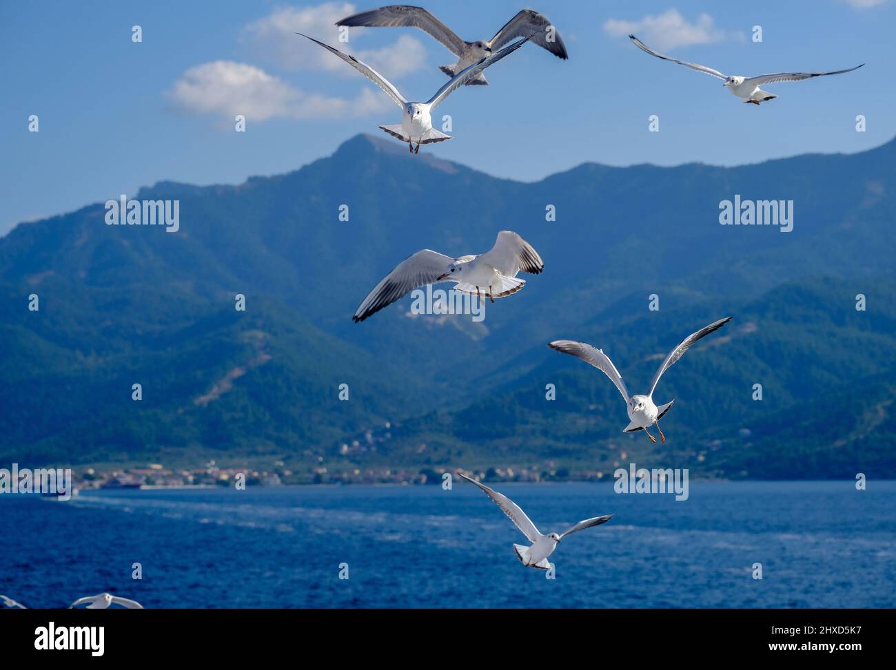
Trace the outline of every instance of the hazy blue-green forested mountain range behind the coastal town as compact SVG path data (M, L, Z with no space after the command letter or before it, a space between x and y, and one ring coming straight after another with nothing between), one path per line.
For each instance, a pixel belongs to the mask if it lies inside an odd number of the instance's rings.
M843 468L862 463L869 477L896 475L884 432L896 141L738 168L585 164L532 184L401 149L359 135L287 175L133 196L179 201L176 233L107 226L102 203L14 228L0 239L0 460L216 454L309 471L549 473L605 468L625 447L645 465L714 476L851 478ZM736 196L792 202L792 230L719 225ZM409 318L409 297L351 322L410 253L481 253L504 228L546 269L487 304L483 322ZM664 376L660 395L676 406L656 447L620 433L625 407L606 378L544 346L605 348L634 389L687 333L728 314ZM776 458L785 440L813 467Z

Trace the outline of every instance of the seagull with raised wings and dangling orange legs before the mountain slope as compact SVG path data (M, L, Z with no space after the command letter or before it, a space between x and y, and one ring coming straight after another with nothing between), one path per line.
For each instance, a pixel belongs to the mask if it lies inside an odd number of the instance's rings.
M582 358L583 361L594 365L600 372L606 374L607 377L610 378L610 381L616 384L616 388L622 393L622 397L625 399L625 404L628 408L628 417L631 420L631 423L625 426L625 433L634 433L643 430L650 438L650 442L656 442L656 439L650 434L650 431L647 430L650 425L656 424L657 430L659 431L659 439L666 442L666 435L659 429L659 419L668 412L675 400L667 402L665 405L660 405L659 408L653 404L653 391L656 391L657 389L659 378L672 366L673 363L676 362L676 360L685 354L685 351L694 345L694 342L698 339L705 338L712 331L718 331L719 328L729 321L731 321L730 316L727 316L724 319L719 319L719 321L712 322L710 325L704 326L699 331L691 333L683 339L676 348L668 353L668 356L663 360L662 365L659 365L659 369L653 374L653 379L650 380L650 391L644 396L630 396L628 394L628 389L625 388L625 382L623 382L622 375L616 370L616 365L613 365L613 361L609 359L609 356L604 353L603 349L593 348L590 344L585 344L583 342L574 342L572 339L556 339L547 346L556 349L557 351L562 351L564 354Z

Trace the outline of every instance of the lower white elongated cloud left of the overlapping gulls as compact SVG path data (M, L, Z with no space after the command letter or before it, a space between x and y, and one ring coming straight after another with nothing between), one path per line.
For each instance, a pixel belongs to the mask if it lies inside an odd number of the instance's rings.
M246 63L214 61L187 70L168 91L179 109L246 120L271 118L332 118L365 116L392 106L374 90L364 89L356 99L306 93L279 77Z

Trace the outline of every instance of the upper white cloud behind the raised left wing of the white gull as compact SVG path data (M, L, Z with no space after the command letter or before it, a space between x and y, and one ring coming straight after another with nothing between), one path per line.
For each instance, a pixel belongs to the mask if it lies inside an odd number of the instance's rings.
M379 49L358 49L355 41L368 29L350 28L349 42L339 41L336 21L356 13L354 4L324 3L312 7L283 7L253 21L243 30L241 41L254 55L284 70L323 70L351 76L351 68L339 58L296 35L305 33L343 53L357 56L389 80L426 66L426 47L420 40L401 35L393 44Z

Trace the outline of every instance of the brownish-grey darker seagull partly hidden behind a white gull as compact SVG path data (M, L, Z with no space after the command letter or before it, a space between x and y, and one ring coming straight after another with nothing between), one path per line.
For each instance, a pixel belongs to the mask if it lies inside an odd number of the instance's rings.
M547 18L533 12L530 9L521 10L510 21L504 24L504 28L497 31L495 37L487 42L478 39L475 42L467 42L454 34L442 21L439 21L423 7L413 7L409 4L390 4L368 12L359 12L337 21L338 26L409 26L428 32L432 37L442 42L449 51L458 57L453 65L442 65L439 69L453 77L480 58L490 56L494 49L504 47L510 40L533 35L532 42L545 48L558 58L564 60L569 56L563 39L557 34ZM488 82L482 73L470 77L464 82L466 85L487 85Z

